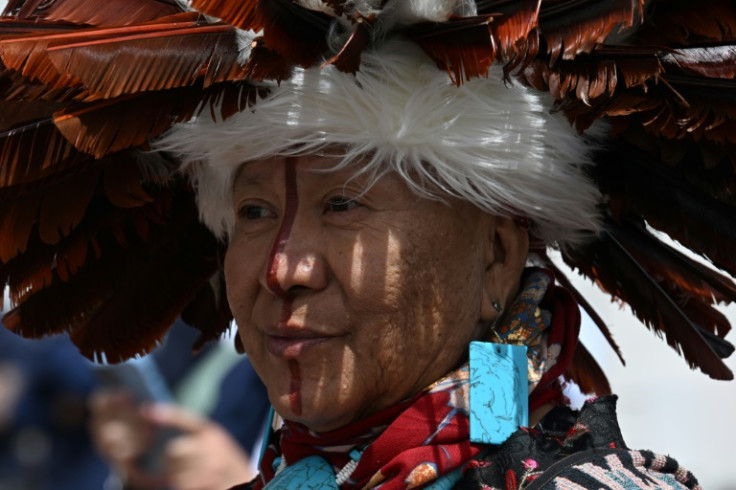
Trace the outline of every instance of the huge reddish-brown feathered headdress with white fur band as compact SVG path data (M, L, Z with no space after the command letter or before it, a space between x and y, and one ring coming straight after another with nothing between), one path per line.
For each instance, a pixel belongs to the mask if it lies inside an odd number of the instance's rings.
M386 43L392 46L397 35L404 40L398 51L421 50L429 64L384 63L395 51ZM571 168L563 164L574 147L567 160L576 168L570 194L578 195L569 202L589 208L596 191L586 179L600 192L602 230L563 247L565 262L628 303L691 366L713 378L733 377L722 362L733 351L724 340L730 323L714 307L736 299L730 1L10 0L0 36L0 282L10 286L14 305L3 321L22 335L67 331L82 353L111 361L150 350L178 315L202 331L200 343L218 337L231 320L219 272L223 244L200 222L177 155L189 155L189 166L207 181L196 181L200 197L214 199L200 203L203 214L226 235L227 218L207 211L208 202L220 209L217 199L225 195L228 173L219 169L259 152L345 144L344 124L336 126L334 117L348 101L359 106L353 113L366 118L362 124L384 120L380 107L359 98L361 81L414 69L418 81L407 93L417 97L415 120L436 116L466 128L465 139L450 141L457 152L433 161L430 145L413 155L405 144L412 134L399 141L389 126L379 142L371 139L378 132L357 143L353 134L348 155L377 155L372 171L379 173L382 162L401 170L414 159L409 174L428 169L421 179L488 209L527 216L548 244L564 242L594 226L591 214L559 228L554 209L478 185L503 173L493 173L503 165L489 170L471 145L494 128L463 111L450 117L451 107L444 114L428 109L419 102L431 97L416 90L440 84L440 74L441 90L461 105L469 107L479 93L523 99L538 124L509 121L516 126L509 134L525 148L542 140L539 151L548 153L509 161L538 170L532 185L545 172L555 179ZM299 96L309 83L326 87L323 98L342 97L340 103L327 112L319 104L309 108L308 114L326 114L324 120L286 124L295 100L299 111L309 106ZM333 94L335 87L353 91ZM606 122L592 164L582 165L590 151L579 144L584 137L570 137L559 117L578 132ZM173 125L192 120L196 131L219 128L207 133L208 148L202 138L187 146L194 132L185 124L157 146L177 152L148 151ZM280 141L293 144L268 149L258 131L276 121ZM250 140L220 131L242 134L244 127ZM227 141L213 140L217 134ZM213 155L223 157L224 167L207 170ZM544 166L548 157L552 163ZM453 159L477 165L458 171ZM577 177L580 171L586 179ZM213 180L218 172L220 180ZM566 231L555 236L556 229ZM652 229L714 267L675 251ZM536 252L553 267L544 247ZM572 287L561 271L557 276ZM605 323L578 296L618 352ZM608 391L582 346L568 375L583 391Z

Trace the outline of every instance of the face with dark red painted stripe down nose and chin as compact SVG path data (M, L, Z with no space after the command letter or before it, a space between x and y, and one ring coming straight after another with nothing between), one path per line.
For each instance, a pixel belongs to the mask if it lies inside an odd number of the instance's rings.
M271 402L329 431L418 392L481 335L494 218L413 194L364 192L325 157L245 165L225 260L239 335Z

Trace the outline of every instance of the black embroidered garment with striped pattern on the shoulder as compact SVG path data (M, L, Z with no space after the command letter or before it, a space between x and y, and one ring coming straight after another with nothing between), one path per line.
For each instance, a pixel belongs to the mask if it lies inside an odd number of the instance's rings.
M616 396L552 410L468 463L458 489L700 489L672 458L626 447Z

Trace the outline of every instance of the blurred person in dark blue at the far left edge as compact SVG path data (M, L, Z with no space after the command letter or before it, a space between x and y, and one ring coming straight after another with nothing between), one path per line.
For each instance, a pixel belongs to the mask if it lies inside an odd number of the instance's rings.
M0 488L98 489L107 466L87 432L96 379L66 336L30 341L0 325Z

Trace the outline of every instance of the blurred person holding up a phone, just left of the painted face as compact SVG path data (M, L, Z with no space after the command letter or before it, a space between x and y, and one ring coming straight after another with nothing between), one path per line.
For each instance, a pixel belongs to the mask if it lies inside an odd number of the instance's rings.
M208 346L190 354L195 333L178 322L145 359L149 362L138 367L146 382L156 385L149 387L157 393L147 400L132 386L101 389L91 397L93 438L115 469L108 487L214 490L255 475L268 410L265 388L249 361L226 349ZM221 366L213 368L217 363ZM224 372L219 383L218 370ZM197 381L202 373L207 379ZM211 408L187 402L201 383L219 386L214 396L201 395L215 400ZM243 416L243 407L249 416Z

